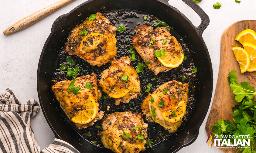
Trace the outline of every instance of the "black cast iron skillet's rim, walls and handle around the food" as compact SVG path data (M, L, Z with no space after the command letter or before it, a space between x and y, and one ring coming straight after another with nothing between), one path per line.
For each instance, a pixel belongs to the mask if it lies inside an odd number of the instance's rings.
M207 14L193 0L182 1L189 5L202 19L198 27L195 27L181 12L170 6L168 0L89 0L55 20L39 59L37 90L43 114L56 138L67 141L80 152L111 152L107 149L95 147L81 138L68 122L63 119L63 114L58 104L54 102L54 95L51 91L51 80L56 69L58 51L64 46L69 30L80 23L81 20L84 20L85 16L97 11L101 12L101 9L105 7L106 10L138 10L161 17L184 39L188 48L192 51L194 64L198 70L196 73L198 82L194 96L194 109L190 112L186 126L176 133L176 139L169 138L154 146L154 149L149 149L145 152L176 152L196 140L200 125L209 108L213 90L212 64L202 38L202 33L209 25L210 20Z

